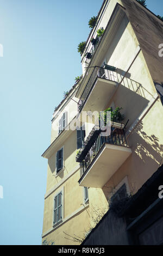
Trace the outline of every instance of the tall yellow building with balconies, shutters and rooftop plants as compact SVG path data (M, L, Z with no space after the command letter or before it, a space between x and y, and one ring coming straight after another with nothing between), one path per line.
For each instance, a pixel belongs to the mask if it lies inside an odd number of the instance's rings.
M162 28L136 0L103 2L81 56L83 76L55 109L51 145L42 154L42 241L79 245L111 200L135 194L160 166ZM91 114L108 108L111 132L102 136Z

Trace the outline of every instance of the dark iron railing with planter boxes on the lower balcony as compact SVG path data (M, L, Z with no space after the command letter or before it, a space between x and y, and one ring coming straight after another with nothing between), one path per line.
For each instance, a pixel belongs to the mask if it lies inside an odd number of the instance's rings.
M82 156L79 158L80 177L86 172L104 143L128 147L124 129L111 126L109 136L102 136L101 130L98 133L96 131L96 137L90 139L89 147L82 151Z

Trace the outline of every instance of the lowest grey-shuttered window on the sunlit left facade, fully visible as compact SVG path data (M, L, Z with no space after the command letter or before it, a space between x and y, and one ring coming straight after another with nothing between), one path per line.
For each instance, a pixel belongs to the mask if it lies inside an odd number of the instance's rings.
M58 193L54 197L54 221L53 224L57 224L62 220L62 192Z

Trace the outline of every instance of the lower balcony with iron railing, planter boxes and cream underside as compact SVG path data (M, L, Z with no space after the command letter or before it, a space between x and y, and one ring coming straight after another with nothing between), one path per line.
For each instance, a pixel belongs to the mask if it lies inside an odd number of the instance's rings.
M109 136L102 136L100 129L91 132L76 159L80 162L79 186L102 188L130 156L123 127L112 123Z

